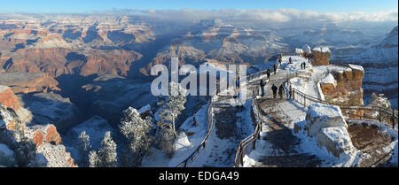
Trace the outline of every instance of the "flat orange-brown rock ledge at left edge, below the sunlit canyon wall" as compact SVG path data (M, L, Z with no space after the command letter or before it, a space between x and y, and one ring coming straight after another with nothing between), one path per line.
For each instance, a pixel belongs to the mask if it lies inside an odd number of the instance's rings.
M0 73L0 84L12 87L13 93L60 90L59 82L48 73Z

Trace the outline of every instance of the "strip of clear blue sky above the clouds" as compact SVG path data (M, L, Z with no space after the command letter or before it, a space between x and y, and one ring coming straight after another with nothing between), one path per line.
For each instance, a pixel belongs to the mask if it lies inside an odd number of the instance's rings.
M0 13L90 13L116 9L297 9L315 12L397 10L397 0L7 0Z

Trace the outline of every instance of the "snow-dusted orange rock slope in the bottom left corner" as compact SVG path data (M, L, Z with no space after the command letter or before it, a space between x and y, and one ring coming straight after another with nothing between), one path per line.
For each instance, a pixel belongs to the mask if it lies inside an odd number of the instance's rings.
M3 87L2 89L4 89ZM75 166L74 159L66 152L65 146L60 144L61 137L54 125L29 127L26 122L21 121L20 116L11 107L7 110L3 102L0 102L0 143L6 144L11 150L20 150L20 145L26 143L22 143L21 134L13 134L13 132L18 131L18 133L23 133L22 135L25 135L28 141L35 144L35 147L30 149L34 150L35 157L24 159L29 160L27 161L29 165L49 167ZM17 123L19 123L18 126L20 127L15 127Z

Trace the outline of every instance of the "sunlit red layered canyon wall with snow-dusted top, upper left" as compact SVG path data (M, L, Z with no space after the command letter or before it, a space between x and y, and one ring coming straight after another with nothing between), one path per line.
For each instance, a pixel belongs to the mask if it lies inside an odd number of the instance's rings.
M44 72L52 77L98 72L126 75L141 55L124 48L154 40L149 27L131 24L126 16L20 16L0 19L0 25L3 70Z

